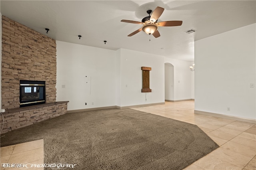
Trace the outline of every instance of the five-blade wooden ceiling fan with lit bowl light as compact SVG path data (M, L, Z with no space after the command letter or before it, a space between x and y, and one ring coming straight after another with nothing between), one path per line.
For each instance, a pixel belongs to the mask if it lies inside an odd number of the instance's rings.
M156 9L153 11L152 15L150 16L152 10L147 10L147 13L149 16L146 16L142 19L141 22L138 21L131 21L131 20L121 20L121 22L128 22L132 24L142 24L142 28L132 32L128 35L128 37L133 36L137 34L140 31L146 32L146 34L152 34L155 38L160 37L160 33L158 32L158 27L169 27L169 26L181 26L182 21L163 21L163 22L157 22L158 18L162 15L164 12L164 8L156 7Z

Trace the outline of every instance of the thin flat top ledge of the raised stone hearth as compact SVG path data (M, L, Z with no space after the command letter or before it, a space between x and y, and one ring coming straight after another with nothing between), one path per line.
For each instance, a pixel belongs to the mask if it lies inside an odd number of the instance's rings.
M20 111L27 111L27 110L31 110L31 109L38 109L38 108L42 108L42 107L47 107L47 106L53 106L53 105L59 105L62 103L68 103L69 101L56 101L56 102L52 102L52 103L44 103L44 104L40 104L40 105L33 105L33 106L26 106L26 107L18 107L18 108L14 108L14 109L6 109L4 114L7 113L14 113L14 112L20 112Z

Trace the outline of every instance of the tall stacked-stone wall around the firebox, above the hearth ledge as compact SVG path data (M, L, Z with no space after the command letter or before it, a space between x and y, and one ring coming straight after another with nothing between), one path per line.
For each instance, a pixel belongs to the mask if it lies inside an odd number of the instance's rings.
M20 107L20 80L46 81L56 101L56 41L2 16L2 109Z

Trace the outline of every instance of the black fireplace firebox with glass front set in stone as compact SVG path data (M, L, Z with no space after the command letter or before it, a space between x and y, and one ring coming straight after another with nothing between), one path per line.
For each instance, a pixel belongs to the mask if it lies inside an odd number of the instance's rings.
M45 81L20 80L20 107L46 103Z

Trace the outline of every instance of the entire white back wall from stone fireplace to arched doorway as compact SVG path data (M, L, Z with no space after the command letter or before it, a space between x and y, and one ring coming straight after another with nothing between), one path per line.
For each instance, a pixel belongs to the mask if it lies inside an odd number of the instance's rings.
M164 102L164 57L127 49L56 44L56 101L70 101L68 110ZM152 67L151 93L141 93L143 66Z

